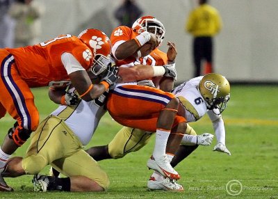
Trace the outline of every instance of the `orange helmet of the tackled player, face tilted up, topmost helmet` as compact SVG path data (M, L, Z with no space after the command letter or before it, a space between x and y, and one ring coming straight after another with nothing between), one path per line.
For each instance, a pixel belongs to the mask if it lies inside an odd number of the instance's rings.
M133 31L136 31L138 33L142 33L145 31L154 33L158 36L161 42L165 35L165 28L163 24L158 19L152 16L140 17L136 20L136 22L133 23L132 29Z

